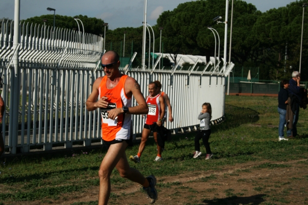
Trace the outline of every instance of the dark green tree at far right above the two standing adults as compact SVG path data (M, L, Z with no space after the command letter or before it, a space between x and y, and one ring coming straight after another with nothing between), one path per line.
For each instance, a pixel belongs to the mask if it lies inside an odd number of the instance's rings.
M271 79L289 78L290 67L298 70L302 5L305 2L293 2L286 7L271 9L258 18L253 28L260 48L258 63L266 65ZM305 23L304 26L305 31L308 26ZM307 35L303 35L302 65L308 60L307 40ZM303 78L306 77L305 73L302 72Z

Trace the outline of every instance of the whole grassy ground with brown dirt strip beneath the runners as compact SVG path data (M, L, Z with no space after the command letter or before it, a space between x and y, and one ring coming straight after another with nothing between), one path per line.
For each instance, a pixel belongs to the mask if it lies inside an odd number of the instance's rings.
M300 110L301 138L278 141L278 100L226 96L226 119L212 126L205 160L192 158L196 132L179 133L166 143L164 161L153 162L147 142L141 163L129 162L158 179L157 204L308 204L308 111ZM198 113L196 113L197 117ZM176 116L175 116L176 117ZM126 150L136 155L139 142ZM0 158L0 204L97 204L98 170L104 148ZM141 187L111 175L110 204L146 204Z

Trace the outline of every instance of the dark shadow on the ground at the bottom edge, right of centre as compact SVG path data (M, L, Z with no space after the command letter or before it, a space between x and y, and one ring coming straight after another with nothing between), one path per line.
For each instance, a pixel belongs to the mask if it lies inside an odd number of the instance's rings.
M264 202L263 197L266 196L265 194L258 194L254 196L247 196L247 197L238 197L238 196L231 196L221 199L211 199L211 200L203 200L203 203L208 205L221 205L221 204L260 204Z

